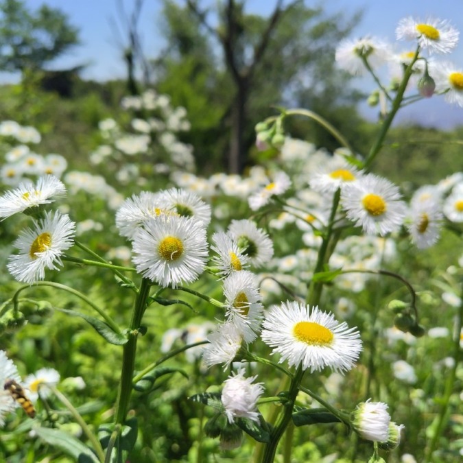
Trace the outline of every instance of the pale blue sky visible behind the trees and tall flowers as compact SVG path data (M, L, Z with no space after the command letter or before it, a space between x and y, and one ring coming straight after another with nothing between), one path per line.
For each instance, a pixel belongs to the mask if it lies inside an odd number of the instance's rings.
M77 64L88 64L82 77L94 80L108 80L123 78L125 68L121 59L122 48L118 40L123 36L117 36L110 26L110 22L117 23L119 28L122 23L117 14L117 2L119 0L26 0L29 8L37 8L42 3L60 8L69 16L71 23L80 28L82 45L75 47L69 53L54 63L55 68L72 67ZM209 0L205 0L206 2ZM276 0L248 0L248 10L252 12L268 12L272 10ZM130 13L133 0L121 0L126 10ZM213 2L212 2L213 3ZM449 19L461 32L458 48L449 56L449 59L463 67L463 1L462 0L306 0L307 5L322 4L327 12L347 12L351 14L357 10L364 10L364 17L354 29L351 36L361 37L374 35L387 38L394 42L395 28L399 20L405 16L414 16L425 19L434 16L440 19ZM161 25L160 16L161 0L145 0L139 32L143 43L143 49L148 57L155 56L161 49L162 43L158 28ZM0 82L11 82L15 76L0 73ZM365 83L359 82L364 86ZM434 99L433 99L434 100ZM413 105L402 118L420 115L423 120L424 106L429 103ZM431 106L437 103L433 102ZM445 108L446 117L463 123L463 110L451 108L449 105L439 106L442 111ZM440 109L430 111L427 123L442 122L442 118L436 115ZM456 118L456 119L455 119Z

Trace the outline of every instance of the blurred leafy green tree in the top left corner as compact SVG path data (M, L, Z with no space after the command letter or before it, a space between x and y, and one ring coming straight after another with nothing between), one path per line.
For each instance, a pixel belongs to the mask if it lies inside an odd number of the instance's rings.
M57 8L42 5L29 12L22 0L0 3L0 69L14 72L43 69L78 45L78 29Z

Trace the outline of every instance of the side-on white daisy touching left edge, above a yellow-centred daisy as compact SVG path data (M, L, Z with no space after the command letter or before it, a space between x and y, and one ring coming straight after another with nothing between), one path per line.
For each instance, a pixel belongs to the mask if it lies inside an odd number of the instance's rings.
M32 182L23 182L16 189L7 191L0 197L0 217L4 219L29 207L48 204L53 202L49 198L64 193L64 184L51 175L40 177L35 185Z

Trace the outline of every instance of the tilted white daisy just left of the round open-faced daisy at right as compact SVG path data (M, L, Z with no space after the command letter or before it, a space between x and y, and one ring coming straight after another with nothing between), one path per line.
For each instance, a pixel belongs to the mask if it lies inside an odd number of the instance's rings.
M349 164L342 156L333 156L326 165L312 174L309 185L319 193L334 193L338 188L355 182L360 176L359 169Z

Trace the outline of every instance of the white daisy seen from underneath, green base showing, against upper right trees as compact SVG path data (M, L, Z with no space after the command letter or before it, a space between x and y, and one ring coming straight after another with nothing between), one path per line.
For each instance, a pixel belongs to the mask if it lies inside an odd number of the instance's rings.
M372 69L388 62L392 56L390 45L376 37L364 37L353 40L346 38L336 49L335 60L338 66L352 75L367 72L364 59Z

